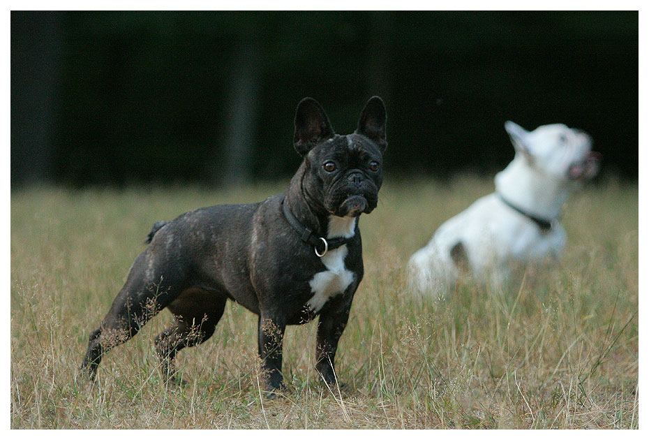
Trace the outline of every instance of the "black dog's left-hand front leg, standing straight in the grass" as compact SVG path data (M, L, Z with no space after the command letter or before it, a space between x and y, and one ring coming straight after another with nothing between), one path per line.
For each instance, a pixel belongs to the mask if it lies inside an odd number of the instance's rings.
M266 378L268 397L275 397L274 391L284 388L282 383L282 343L285 320L275 316L259 316L259 356Z

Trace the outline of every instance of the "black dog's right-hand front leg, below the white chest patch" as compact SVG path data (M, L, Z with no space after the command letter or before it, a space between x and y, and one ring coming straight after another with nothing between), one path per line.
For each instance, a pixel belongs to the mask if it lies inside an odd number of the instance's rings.
M337 298L336 298L337 299ZM347 325L350 316L351 300L343 302L338 307L327 307L318 320L318 337L315 347L317 363L315 369L329 385L336 383L334 373L334 356L338 349L338 339Z

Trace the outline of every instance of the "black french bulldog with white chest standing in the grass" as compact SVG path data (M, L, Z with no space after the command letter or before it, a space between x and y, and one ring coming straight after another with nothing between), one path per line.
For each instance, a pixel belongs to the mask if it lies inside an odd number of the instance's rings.
M156 337L162 376L183 384L176 353L206 341L228 298L259 315L259 355L266 390L283 388L286 325L320 316L318 372L333 383L334 355L363 277L358 217L378 202L385 105L366 104L358 129L337 135L318 102L304 98L294 147L304 158L288 190L249 205L217 205L158 222L126 284L90 335L82 371L91 380L102 355L126 342L167 307L174 323Z

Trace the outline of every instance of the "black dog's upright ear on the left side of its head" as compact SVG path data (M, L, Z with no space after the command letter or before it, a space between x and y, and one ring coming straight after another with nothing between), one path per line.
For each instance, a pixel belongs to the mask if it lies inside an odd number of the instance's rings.
M304 98L295 111L295 135L293 145L301 156L305 156L318 142L331 138L334 129L327 114L313 98Z

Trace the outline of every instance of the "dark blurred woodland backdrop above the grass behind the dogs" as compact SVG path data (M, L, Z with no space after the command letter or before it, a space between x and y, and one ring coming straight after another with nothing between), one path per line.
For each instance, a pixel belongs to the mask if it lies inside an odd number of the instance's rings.
M11 182L236 185L292 174L294 110L372 95L388 173L494 173L503 123L588 131L638 175L638 13L11 13Z

